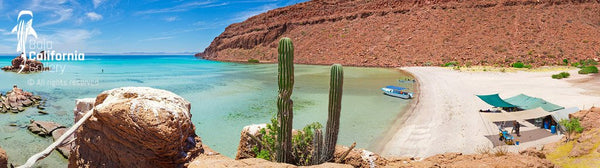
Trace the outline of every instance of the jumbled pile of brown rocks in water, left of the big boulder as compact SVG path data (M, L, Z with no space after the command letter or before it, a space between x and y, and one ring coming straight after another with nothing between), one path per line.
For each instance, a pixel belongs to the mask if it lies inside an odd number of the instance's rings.
M42 97L23 91L17 85L14 85L11 91L6 92L6 95L0 93L0 113L19 113L31 106L37 106L38 109L43 110L44 103Z

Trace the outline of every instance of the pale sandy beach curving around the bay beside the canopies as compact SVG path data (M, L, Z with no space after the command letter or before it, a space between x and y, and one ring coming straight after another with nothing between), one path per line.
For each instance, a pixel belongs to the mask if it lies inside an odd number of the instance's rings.
M493 146L493 140L486 135L497 134L497 126L479 114L479 109L491 106L481 101L478 94L499 93L508 98L523 93L566 108L584 109L600 104L598 91L587 84L597 81L597 77L579 75L577 70L570 70L571 77L562 80L550 77L558 72L461 72L440 67L402 70L412 73L419 82L418 99L376 148L385 156L475 153L477 148ZM533 125L525 127L522 130L535 129ZM539 147L559 139L560 136L552 136L519 147Z

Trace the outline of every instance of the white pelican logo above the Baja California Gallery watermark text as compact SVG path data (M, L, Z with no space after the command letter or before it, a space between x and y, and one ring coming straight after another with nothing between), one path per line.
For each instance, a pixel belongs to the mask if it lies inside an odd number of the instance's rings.
M26 15L29 15L29 17L21 18L21 16ZM23 58L21 69L19 72L17 72L21 73L21 71L23 71L25 68L25 64L27 63L27 56L25 55L25 53L27 53L27 45L25 44L27 42L27 37L32 35L33 37L37 38L37 33L35 33L35 30L33 30L33 27L31 27L33 24L33 12L28 10L22 10L19 12L19 16L17 16L17 23L18 24L13 28L12 33L17 33L17 52L20 52L20 57Z

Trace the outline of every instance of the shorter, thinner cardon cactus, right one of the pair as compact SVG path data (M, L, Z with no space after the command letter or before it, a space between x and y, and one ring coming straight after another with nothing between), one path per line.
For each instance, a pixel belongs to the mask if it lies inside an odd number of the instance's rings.
M325 149L322 162L333 158L335 145L340 129L340 112L342 110L342 90L344 86L344 70L342 65L331 66L329 82L329 112L327 115L327 127L325 128Z

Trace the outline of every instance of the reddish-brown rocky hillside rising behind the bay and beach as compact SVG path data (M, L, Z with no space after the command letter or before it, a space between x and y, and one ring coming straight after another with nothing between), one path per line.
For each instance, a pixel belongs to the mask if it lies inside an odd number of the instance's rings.
M314 0L228 26L197 57L357 66L550 65L600 58L600 0Z

